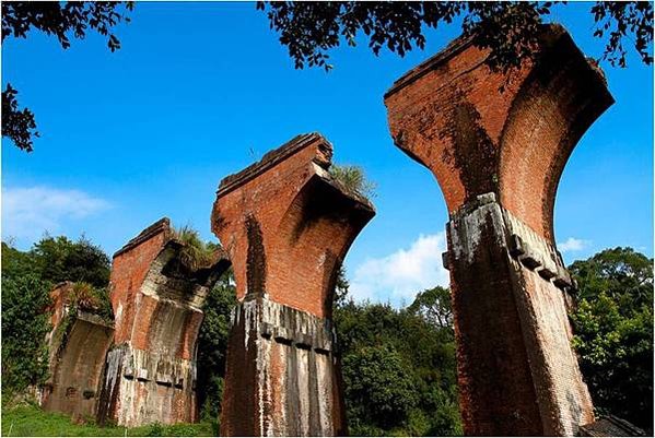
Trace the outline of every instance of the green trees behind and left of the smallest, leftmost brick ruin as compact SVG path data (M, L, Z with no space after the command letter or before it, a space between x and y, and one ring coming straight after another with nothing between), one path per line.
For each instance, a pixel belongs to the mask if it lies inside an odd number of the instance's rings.
M85 238L44 237L30 251L2 242L2 391L21 393L48 375L45 335L52 286L73 281L71 305L110 320L109 258ZM86 283L84 283L86 282Z

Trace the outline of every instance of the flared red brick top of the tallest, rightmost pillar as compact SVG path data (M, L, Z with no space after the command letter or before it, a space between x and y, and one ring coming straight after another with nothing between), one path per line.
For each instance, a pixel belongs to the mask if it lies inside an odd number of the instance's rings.
M552 241L560 176L573 147L612 103L600 69L559 25L534 61L490 71L489 55L459 38L385 95L398 147L432 170L448 211L493 192Z

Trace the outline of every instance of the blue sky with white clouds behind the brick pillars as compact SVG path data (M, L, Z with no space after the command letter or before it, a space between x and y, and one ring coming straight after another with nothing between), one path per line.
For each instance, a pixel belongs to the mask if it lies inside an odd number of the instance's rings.
M589 3L554 19L589 56ZM377 184L377 216L346 260L355 296L394 304L445 284L447 212L428 169L391 142L383 94L458 35L428 32L425 50L375 57L364 40L335 70L295 70L254 3L138 3L122 48L89 35L68 50L32 33L2 47L2 82L36 115L26 154L2 139L2 238L27 249L47 229L84 233L113 253L162 216L207 239L224 176L297 133L319 131L335 159ZM587 131L560 182L555 236L571 262L607 247L653 256L653 69L603 64L617 103Z

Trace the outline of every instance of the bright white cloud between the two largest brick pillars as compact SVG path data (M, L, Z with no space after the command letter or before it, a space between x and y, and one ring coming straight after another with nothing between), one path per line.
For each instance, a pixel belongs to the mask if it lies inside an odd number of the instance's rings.
M445 250L445 233L421 235L409 249L367 259L355 268L350 293L358 300L410 304L425 288L448 285L448 271L442 263Z

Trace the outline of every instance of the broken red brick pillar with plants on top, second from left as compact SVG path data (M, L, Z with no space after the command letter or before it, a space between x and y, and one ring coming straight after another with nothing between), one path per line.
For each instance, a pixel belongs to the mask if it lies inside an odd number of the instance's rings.
M168 218L114 254L110 298L116 332L105 366L98 421L122 426L197 419L196 344L202 305L230 262L189 269Z

